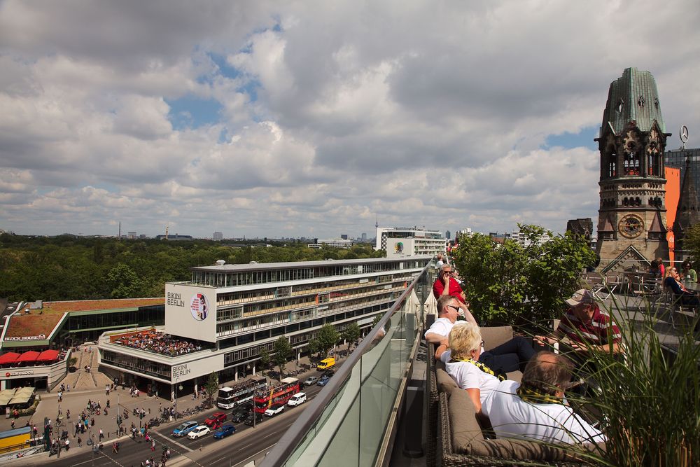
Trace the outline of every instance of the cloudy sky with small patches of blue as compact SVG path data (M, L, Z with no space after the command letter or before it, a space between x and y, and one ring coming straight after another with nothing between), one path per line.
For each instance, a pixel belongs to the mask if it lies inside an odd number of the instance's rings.
M0 229L560 232L610 82L700 146L687 1L0 1Z

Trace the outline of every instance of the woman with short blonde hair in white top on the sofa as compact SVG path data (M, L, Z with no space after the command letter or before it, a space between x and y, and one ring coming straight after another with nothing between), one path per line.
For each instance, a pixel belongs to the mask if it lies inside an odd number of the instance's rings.
M456 323L449 331L450 360L445 363L447 374L461 389L469 394L477 414L498 383L505 379L496 377L486 365L479 363L482 337L479 326L469 321Z

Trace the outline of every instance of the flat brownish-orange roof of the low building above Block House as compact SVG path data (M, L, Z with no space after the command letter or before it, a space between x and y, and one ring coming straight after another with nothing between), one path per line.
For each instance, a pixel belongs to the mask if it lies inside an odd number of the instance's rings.
M48 335L66 312L104 312L109 309L138 308L147 305L164 305L162 298L124 298L116 300L76 300L43 302L41 309L31 309L29 304L10 318L5 337L31 337ZM29 309L29 313L25 310Z

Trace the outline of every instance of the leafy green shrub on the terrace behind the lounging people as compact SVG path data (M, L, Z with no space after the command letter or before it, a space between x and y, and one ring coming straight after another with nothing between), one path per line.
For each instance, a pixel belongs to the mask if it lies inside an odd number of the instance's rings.
M537 225L519 228L528 246L476 234L462 237L453 253L470 310L482 324L543 323L558 316L563 300L580 288L580 272L595 261L582 239ZM551 239L538 244L545 233Z

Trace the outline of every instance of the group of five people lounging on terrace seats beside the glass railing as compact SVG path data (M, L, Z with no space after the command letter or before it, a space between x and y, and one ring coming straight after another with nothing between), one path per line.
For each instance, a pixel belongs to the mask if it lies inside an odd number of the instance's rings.
M549 335L534 336L533 344L514 337L485 351L479 326L452 270L448 264L440 266L433 284L438 317L426 331L426 341L435 344L435 358L467 391L478 416L490 422L496 437L569 444L604 441L603 434L575 413L565 397L572 380L580 377L577 369L585 354L622 351L617 324L598 307L591 291L581 289L566 300L568 309ZM459 315L463 321L458 321ZM550 351L554 344L568 346L575 360ZM522 372L521 382L507 379L507 373L516 370Z

